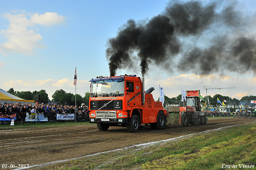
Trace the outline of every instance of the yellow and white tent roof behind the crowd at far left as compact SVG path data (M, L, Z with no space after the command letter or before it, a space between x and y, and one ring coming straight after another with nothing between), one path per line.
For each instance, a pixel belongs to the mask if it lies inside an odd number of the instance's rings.
M4 91L3 89L0 88L0 102L2 105L4 105L4 103L21 103L21 104L26 104L26 103L34 103L34 100L24 100L22 98L19 98L17 96L14 96L6 91Z

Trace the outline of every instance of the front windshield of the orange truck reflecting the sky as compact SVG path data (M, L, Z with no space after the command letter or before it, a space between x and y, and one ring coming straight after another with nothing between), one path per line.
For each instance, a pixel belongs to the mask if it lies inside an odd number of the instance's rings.
M91 84L91 96L95 95L124 95L124 80L100 80Z

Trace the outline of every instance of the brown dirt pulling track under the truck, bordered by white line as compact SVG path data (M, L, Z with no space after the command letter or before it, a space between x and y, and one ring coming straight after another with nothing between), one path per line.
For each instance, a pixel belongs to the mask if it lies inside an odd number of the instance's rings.
M1 130L0 165L33 166L255 121L255 118L212 118L208 119L206 125L167 127L164 130L152 130L144 126L137 133L130 133L123 127L110 127L107 131L100 131L95 124L35 130Z

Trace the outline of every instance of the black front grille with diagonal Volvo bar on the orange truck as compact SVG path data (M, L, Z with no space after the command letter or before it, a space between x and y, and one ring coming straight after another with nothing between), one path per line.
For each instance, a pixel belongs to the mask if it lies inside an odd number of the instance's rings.
M122 100L96 100L91 101L91 110L122 110L123 102ZM108 103L110 102L110 103ZM107 104L108 103L108 104ZM107 104L107 105L106 105Z

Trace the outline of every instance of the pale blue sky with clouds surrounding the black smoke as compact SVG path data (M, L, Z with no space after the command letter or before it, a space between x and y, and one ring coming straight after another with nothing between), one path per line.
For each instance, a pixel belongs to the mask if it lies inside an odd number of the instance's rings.
M49 98L59 89L75 94L72 82L77 67L76 92L84 96L90 90L88 81L91 78L110 74L105 54L108 39L115 37L129 19L147 22L162 14L169 2L13 0L10 3L3 0L0 6L0 88L31 92L44 89ZM238 3L242 12L255 16L256 2ZM139 68L117 70L117 75L120 74L142 76ZM256 95L254 72L202 76L194 72L168 72L152 65L145 78L146 88L156 88L153 92L155 100L159 93L158 84L169 97L178 96L181 89L199 89L205 95L204 85L236 87L235 90L209 90L211 95L220 93L238 99Z

